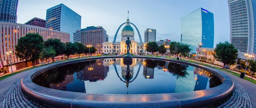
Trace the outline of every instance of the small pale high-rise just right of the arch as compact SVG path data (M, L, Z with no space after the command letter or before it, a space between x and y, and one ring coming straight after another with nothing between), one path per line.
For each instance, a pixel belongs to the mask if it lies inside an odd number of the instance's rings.
M144 31L144 43L155 42L157 39L157 30L147 28Z

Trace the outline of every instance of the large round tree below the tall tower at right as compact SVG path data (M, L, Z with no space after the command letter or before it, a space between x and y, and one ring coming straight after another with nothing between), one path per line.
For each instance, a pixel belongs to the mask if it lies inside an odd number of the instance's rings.
M236 63L238 51L232 44L228 43L227 41L224 43L218 43L214 49L214 52L214 58L224 64L223 68L225 65Z

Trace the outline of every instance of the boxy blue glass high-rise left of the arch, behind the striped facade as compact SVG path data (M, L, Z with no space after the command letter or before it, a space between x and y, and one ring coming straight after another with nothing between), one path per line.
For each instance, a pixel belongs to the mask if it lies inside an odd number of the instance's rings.
M81 42L81 16L62 3L47 9L46 28L70 33L70 42Z

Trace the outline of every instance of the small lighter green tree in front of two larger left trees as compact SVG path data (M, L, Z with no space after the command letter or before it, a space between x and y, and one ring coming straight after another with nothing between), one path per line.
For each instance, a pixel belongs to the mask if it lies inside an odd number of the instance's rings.
M49 58L54 58L56 57L56 51L53 49L52 46L48 47L48 48L44 48L42 53L41 53L41 58L46 58L48 60L48 64L49 64Z

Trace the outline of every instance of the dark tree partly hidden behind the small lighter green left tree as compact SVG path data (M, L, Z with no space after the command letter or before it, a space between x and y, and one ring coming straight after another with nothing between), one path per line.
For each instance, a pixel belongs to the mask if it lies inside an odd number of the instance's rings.
M55 57L63 54L64 43L62 43L61 40L59 40L59 39L47 39L46 41L44 41L44 46L45 47L52 46L52 48L56 52ZM52 58L52 60L54 62L54 57Z

